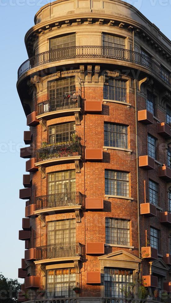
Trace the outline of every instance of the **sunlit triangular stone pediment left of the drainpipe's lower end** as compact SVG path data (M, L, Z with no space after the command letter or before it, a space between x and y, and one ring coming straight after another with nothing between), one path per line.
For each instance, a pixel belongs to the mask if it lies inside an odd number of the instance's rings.
M99 260L115 260L115 261L129 261L140 263L141 259L137 258L133 254L127 253L125 250L117 250L113 253L106 254L99 257Z

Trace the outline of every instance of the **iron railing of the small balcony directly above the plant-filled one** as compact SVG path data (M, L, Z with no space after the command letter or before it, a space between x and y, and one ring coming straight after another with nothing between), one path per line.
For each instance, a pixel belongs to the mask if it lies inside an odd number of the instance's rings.
M43 101L37 105L37 115L72 108L81 108L81 97L79 95Z

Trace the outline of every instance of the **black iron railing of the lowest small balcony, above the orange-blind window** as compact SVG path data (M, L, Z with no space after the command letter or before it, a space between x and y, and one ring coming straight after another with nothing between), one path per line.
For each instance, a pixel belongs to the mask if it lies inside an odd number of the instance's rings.
M80 243L59 243L37 247L36 260L47 260L54 258L84 257L85 246Z

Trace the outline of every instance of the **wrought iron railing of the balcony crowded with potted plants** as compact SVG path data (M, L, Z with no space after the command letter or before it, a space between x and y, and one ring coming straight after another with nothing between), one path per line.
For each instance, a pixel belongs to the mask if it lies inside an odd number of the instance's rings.
M82 156L82 146L79 142L50 145L37 150L37 162L69 156Z

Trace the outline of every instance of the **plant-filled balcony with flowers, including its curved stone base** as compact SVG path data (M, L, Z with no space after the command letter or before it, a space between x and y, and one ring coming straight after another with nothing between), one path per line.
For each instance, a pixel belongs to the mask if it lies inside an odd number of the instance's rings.
M77 143L64 143L64 144L47 144L37 150L37 163L35 166L48 166L57 163L70 163L75 162L76 173L80 172L79 161L82 160L82 146Z

